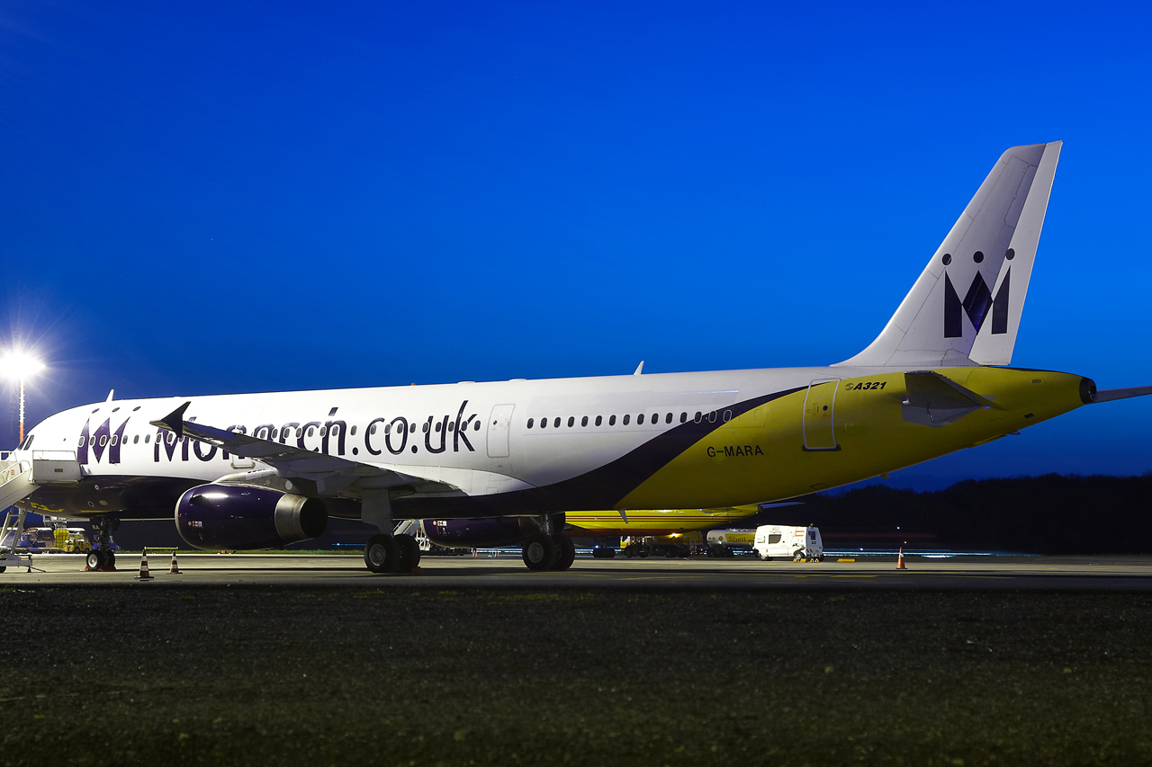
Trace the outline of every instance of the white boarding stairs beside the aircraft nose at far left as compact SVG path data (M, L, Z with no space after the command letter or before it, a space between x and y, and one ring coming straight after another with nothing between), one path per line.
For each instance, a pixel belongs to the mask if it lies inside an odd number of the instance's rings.
M25 508L20 503L40 485L75 485L81 479L76 454L67 450L14 450L0 453L0 509L6 509L0 524L0 572L9 567L28 568L32 557L16 553L16 544L24 530Z

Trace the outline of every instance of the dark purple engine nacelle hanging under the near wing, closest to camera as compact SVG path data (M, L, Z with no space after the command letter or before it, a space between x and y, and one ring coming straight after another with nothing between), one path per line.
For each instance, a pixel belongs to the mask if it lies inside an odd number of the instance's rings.
M198 485L176 502L176 530L196 548L280 548L327 525L323 501L270 487Z

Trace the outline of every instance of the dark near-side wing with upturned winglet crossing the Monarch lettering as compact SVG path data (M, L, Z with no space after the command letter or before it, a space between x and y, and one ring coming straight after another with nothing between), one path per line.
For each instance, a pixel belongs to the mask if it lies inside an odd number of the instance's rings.
M321 486L325 484L325 480L327 480L326 484L329 487L343 487L350 484L350 481L361 479L362 485L370 484L372 487L419 485L425 492L456 489L447 483L430 481L392 469L373 466L372 464L349 461L348 458L334 455L305 450L291 445L281 445L280 442L260 439L251 434L237 434L236 432L228 432L206 424L197 424L194 420L185 420L184 411L188 410L188 405L190 404L190 402L185 402L160 420L153 420L151 424L160 428L167 428L175 433L177 438L188 436L206 445L219 447L233 455L259 461L275 469L276 473L281 477L303 477L317 480ZM333 481L340 476L343 476L347 481ZM365 483L364 480L369 478L372 481Z

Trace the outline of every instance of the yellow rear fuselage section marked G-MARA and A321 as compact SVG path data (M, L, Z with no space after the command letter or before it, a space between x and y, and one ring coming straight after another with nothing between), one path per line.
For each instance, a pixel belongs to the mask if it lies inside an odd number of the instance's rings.
M1002 367L937 372L994 402L943 426L904 420L904 372L846 378L733 418L620 502L655 508L795 498L987 442L1083 404L1079 375Z

